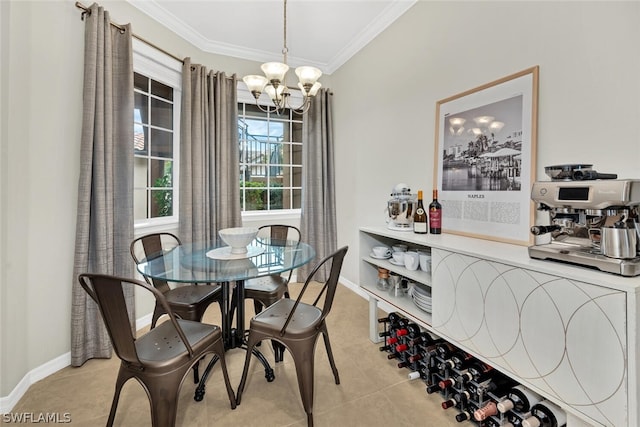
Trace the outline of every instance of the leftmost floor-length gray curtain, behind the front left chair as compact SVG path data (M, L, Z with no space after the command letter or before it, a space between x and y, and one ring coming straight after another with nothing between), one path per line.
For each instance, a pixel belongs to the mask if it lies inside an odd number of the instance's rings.
M73 265L71 364L111 357L111 344L81 273L132 277L133 56L131 28L110 25L93 4L86 16L78 217ZM133 290L127 295L134 319Z

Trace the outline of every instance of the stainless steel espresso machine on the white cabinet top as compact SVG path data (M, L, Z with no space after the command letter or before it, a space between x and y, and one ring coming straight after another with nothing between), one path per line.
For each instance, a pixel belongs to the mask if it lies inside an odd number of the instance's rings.
M529 256L640 275L640 180L598 177L590 168L572 166L578 173L556 175L550 169L557 167L548 167L552 180L533 183L531 199L548 213L550 224L533 226L531 232L549 235L550 241L530 246Z

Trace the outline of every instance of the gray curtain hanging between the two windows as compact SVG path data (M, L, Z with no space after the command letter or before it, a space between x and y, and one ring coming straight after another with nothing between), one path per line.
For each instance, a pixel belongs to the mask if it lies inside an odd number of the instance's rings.
M180 125L180 238L213 241L242 224L235 74L184 60Z

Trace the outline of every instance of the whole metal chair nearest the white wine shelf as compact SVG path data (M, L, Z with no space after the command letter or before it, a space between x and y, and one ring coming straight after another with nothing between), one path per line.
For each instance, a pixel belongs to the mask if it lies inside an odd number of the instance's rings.
M344 246L320 261L311 271L309 277L307 277L300 291L300 295L295 301L289 298L280 299L251 319L247 341L247 356L245 357L242 379L240 380L236 395L236 402L238 404L240 404L249 372L251 350L262 340L275 340L291 352L296 366L302 404L307 413L307 424L313 426L314 349L320 333L322 333L324 339L329 364L331 365L336 384L340 384L338 369L336 368L333 353L331 352L331 344L329 343L329 334L327 332L325 319L329 315L331 305L333 304L340 270L342 269L342 262L347 253L347 249L348 247ZM313 304L301 302L316 272L328 262L331 262L329 279L322 284ZM324 303L322 309L320 309L316 305L323 296Z

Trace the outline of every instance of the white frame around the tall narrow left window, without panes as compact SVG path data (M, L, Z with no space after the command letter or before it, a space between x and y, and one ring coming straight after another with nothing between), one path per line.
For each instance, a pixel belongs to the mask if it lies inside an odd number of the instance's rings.
M182 62L137 39L133 39L132 47L133 71L173 88L173 215L134 220L136 232L154 232L177 227L179 224ZM133 148L131 155L134 155Z

